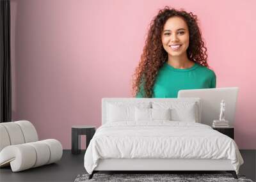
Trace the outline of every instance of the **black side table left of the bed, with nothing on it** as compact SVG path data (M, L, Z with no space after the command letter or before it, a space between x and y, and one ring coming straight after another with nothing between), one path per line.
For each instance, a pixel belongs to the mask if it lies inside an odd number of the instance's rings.
M79 154L81 153L81 135L86 135L86 148L90 143L94 133L95 133L95 126L85 126L85 125L77 125L72 126L72 141L71 141L71 152L72 154Z

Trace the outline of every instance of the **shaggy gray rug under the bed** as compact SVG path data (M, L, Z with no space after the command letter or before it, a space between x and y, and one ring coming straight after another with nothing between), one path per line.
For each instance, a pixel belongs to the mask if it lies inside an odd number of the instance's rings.
M172 182L187 182L187 181L243 181L253 182L251 179L246 179L244 176L238 175L238 179L234 179L232 174L99 174L93 175L92 179L88 179L89 174L79 174L75 182L85 181L100 181L100 182L118 182L118 181L172 181Z

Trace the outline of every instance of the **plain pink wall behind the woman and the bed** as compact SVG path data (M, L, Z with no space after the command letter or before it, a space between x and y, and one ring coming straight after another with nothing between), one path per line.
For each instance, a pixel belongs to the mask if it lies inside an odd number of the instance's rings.
M70 149L72 125L100 126L101 98L131 96L148 24L168 5L198 15L217 86L240 88L237 145L256 149L255 2L11 0L13 120Z

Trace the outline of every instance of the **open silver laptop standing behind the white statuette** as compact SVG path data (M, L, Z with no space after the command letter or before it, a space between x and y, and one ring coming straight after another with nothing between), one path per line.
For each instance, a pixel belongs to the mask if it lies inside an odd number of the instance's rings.
M238 87L215 89L180 90L178 98L198 97L202 102L201 123L212 126L213 120L220 118L220 103L225 100L225 120L234 126Z

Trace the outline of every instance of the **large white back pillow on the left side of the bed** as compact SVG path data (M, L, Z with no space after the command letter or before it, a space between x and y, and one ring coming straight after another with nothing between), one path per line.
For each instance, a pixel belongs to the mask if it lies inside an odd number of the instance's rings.
M150 102L109 102L106 106L107 122L135 121L135 107L150 108Z

